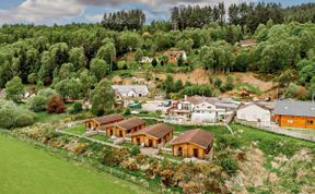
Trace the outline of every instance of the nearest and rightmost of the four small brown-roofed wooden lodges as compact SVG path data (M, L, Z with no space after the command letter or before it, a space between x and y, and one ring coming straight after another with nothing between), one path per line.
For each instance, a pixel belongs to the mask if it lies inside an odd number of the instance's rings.
M213 147L213 134L205 130L184 132L172 143L172 151L176 157L205 159Z

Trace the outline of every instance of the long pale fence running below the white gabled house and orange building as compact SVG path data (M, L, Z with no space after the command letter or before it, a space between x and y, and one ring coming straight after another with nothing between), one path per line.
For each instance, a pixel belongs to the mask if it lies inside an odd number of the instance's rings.
M304 140L304 141L310 141L310 142L315 142L314 135L288 131L288 130L282 129L280 126L262 126L262 125L259 125L259 124L256 124L253 122L241 121L241 120L235 120L235 122L243 124L243 125L246 125L246 126L250 126L254 129L258 129L258 130L262 130L262 131L267 131L267 132L271 132L271 133L276 133L276 134L281 134L281 135L285 135L285 136L290 136L290 137L294 137L294 138L300 138L300 140Z

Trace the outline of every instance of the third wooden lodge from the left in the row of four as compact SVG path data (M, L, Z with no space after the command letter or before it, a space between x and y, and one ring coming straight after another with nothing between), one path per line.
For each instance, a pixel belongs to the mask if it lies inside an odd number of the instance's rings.
M131 142L135 145L156 148L173 138L174 129L164 123L154 124L131 134Z

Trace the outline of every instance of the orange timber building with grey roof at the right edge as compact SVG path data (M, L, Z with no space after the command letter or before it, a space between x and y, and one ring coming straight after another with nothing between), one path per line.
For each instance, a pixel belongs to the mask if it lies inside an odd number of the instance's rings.
M315 102L278 100L273 111L280 126L315 129Z

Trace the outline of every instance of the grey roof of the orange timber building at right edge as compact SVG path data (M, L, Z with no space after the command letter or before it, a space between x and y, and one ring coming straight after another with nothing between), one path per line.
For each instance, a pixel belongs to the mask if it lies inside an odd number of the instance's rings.
M315 117L315 104L312 101L278 100L275 114Z

